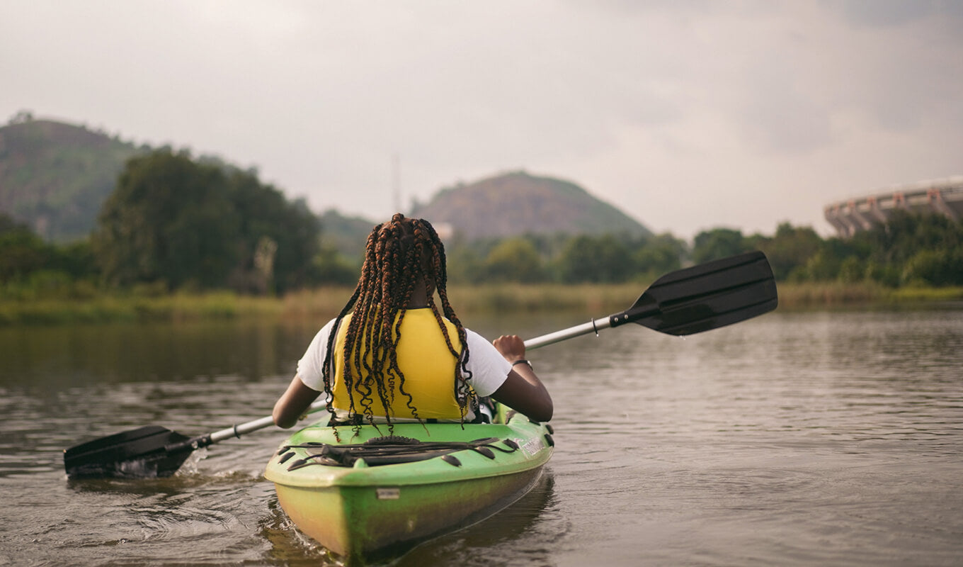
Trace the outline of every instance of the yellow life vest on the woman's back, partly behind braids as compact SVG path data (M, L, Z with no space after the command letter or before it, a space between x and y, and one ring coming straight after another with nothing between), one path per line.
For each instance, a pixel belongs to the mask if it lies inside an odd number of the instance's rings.
M397 317L395 321L397 322ZM448 337L451 338L452 345L458 354L461 353L461 344L458 341L458 332L455 325L448 319L442 319L448 330ZM351 411L351 414L364 413L364 406L361 405L361 393L357 391L357 384L352 387L351 395L354 407L350 407L348 389L345 385L344 351L345 339L348 335L348 327L351 322L351 315L345 316L338 329L335 339L332 361L334 363L334 380L332 385L333 406L336 410ZM394 327L394 325L392 325ZM404 392L411 394L411 405L418 412L421 419L460 419L461 410L455 399L455 365L457 357L448 350L448 344L438 327L438 321L434 318L434 313L430 309L415 309L404 312L404 320L401 328L402 338L398 342L396 355L398 357L398 367L404 374ZM362 349L363 352L363 349ZM371 364L372 358L368 357ZM368 379L363 373L357 372L353 361L351 362L352 374L361 376L360 380ZM413 419L411 409L408 408L408 397L404 395L399 386L401 379L394 371L385 372L385 387L390 388L388 378L393 378L394 392L388 392L388 408L392 419ZM355 380L358 380L355 378ZM375 416L384 416L384 408L377 395L377 386L371 384L372 409Z

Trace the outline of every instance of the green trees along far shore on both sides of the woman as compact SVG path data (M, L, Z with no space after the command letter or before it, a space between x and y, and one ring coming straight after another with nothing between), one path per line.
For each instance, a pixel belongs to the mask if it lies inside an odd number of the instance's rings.
M0 297L103 290L232 289L283 294L353 284L361 258L326 244L319 219L256 172L163 148L131 158L90 238L42 240L0 214ZM649 283L690 263L762 250L783 282L963 285L963 223L897 211L842 239L779 225L772 235L527 235L446 243L454 284Z

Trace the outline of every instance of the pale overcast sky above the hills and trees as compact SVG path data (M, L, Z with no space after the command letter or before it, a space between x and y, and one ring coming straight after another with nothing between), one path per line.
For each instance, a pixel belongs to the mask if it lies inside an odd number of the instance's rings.
M373 221L525 170L680 238L828 235L830 202L963 174L961 29L963 0L0 0L0 121Z

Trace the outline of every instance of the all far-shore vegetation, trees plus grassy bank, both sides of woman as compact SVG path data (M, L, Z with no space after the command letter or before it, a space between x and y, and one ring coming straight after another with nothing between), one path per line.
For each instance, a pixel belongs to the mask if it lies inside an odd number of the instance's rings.
M346 257L303 202L256 172L169 148L128 160L90 237L54 244L0 214L0 324L323 317L342 307ZM661 275L762 250L783 309L963 299L963 223L897 211L851 238L536 234L447 242L460 311L625 309Z

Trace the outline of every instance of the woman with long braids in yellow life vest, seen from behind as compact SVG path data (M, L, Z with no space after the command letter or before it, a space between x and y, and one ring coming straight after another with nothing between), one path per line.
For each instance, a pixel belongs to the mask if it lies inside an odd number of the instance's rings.
M447 279L445 248L428 221L398 213L375 227L351 299L311 341L274 404L274 423L291 427L322 392L333 424L479 421L479 400L489 395L531 419L552 419L552 398L522 339L488 343L465 329Z

